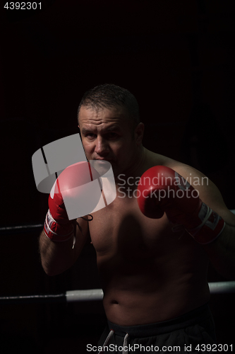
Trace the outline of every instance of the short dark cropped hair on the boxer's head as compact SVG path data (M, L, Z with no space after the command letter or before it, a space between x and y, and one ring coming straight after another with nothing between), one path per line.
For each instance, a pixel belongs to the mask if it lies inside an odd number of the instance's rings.
M126 109L136 127L140 122L140 111L135 96L127 89L114 84L102 84L86 91L78 106L78 115L81 106L99 109L112 108L117 105Z

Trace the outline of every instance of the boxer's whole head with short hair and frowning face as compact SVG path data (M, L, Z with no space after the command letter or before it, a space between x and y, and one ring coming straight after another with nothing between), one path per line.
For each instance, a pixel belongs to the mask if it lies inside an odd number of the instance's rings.
M78 124L88 160L110 161L114 175L124 173L140 156L143 123L128 90L105 84L86 92L78 107Z

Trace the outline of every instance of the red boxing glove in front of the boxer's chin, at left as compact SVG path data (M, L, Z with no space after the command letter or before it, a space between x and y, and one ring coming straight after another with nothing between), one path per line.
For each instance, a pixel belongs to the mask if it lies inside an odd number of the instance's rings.
M49 210L44 222L44 233L52 241L67 241L74 236L76 231L76 219L70 220L64 205L64 198L78 198L74 195L73 188L85 185L93 181L92 176L98 176L88 162L80 162L68 166L56 179L49 195ZM94 178L95 179L95 178ZM62 193L64 198L62 196Z

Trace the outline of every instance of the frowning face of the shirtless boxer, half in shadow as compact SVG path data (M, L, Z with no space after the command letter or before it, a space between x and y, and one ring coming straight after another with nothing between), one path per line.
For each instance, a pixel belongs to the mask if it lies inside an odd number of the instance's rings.
M88 160L105 160L112 164L114 176L130 170L140 155L143 123L134 130L123 108L81 107L80 134Z

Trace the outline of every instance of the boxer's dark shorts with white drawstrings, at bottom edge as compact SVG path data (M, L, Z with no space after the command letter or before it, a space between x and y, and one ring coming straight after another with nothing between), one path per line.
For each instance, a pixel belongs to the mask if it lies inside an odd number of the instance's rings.
M156 324L117 326L108 321L98 349L103 346L111 330L114 334L102 353L211 353L212 346L216 343L215 324L208 304L183 316Z

